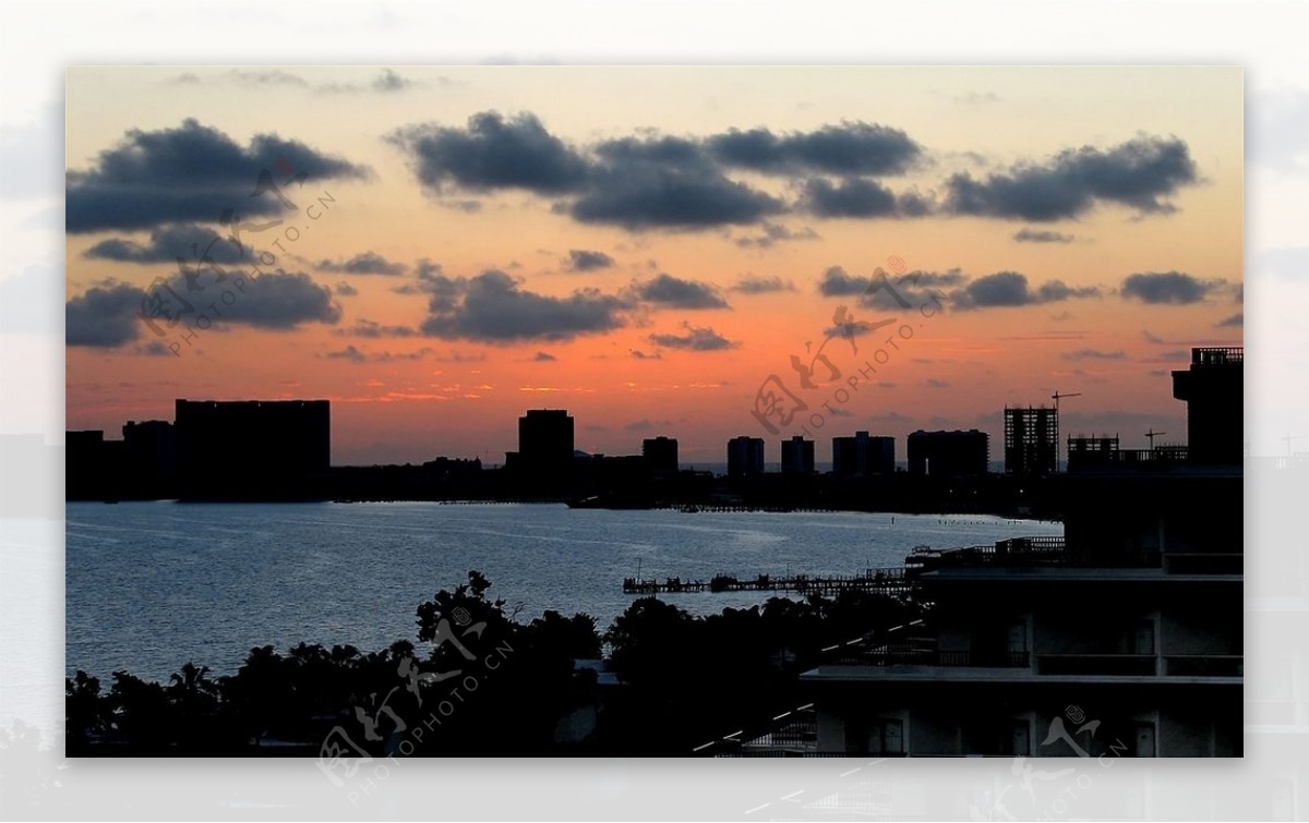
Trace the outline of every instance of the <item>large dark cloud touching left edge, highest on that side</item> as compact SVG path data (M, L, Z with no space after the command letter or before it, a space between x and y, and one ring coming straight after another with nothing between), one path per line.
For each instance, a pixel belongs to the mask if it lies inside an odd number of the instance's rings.
M242 148L194 119L179 128L134 128L117 147L101 152L89 170L68 173L65 226L79 233L216 222L225 209L246 220L278 215L283 205L271 191L251 195L266 170L278 186L296 174L315 182L372 174L367 166L276 135L257 135ZM300 196L295 184L283 194L291 201Z

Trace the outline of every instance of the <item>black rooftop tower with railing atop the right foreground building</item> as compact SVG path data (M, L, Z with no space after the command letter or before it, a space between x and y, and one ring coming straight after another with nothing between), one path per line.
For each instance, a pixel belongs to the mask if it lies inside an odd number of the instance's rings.
M1173 372L1173 396L1186 402L1186 446L1192 463L1241 463L1242 357L1242 348L1192 348L1191 368Z

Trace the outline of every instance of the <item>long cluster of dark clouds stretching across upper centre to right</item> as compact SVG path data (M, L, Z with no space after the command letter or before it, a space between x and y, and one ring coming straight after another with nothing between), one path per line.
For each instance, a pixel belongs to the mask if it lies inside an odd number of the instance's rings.
M550 198L556 213L579 222L631 230L762 224L763 234L733 241L762 249L812 236L810 229L792 232L771 220L784 213L822 219L944 213L1037 222L1075 219L1100 204L1169 213L1175 209L1170 198L1199 181L1185 141L1149 135L1110 148L1066 149L980 179L956 173L944 182L941 201L912 190L897 192L884 182L927 167L929 157L902 130L876 123L783 133L730 128L703 137L647 131L575 145L531 113L483 111L462 127L411 124L387 139L437 199L520 190ZM750 182L732 177L736 173ZM761 178L780 181L798 196L787 201L759 188ZM1071 238L1024 230L1016 239Z

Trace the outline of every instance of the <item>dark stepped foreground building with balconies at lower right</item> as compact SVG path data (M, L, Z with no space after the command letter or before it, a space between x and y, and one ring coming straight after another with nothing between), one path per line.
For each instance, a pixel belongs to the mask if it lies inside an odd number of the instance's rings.
M1063 480L1063 539L911 557L929 618L801 678L816 751L1241 755L1241 369L1194 349L1187 450L1106 444Z

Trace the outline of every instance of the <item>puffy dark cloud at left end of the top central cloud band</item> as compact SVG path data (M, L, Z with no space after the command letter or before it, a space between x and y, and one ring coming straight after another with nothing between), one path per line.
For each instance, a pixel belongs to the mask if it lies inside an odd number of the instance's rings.
M577 190L588 175L581 154L530 113L507 119L499 111L483 111L469 118L465 128L408 126L387 140L408 156L423 186L437 194L448 184L562 194Z

